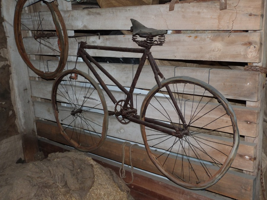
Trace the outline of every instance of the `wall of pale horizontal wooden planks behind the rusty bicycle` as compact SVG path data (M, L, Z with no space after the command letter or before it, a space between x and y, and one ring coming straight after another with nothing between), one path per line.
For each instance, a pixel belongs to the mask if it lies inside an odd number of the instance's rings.
M165 4L64 10L70 9L70 5L67 5L65 1L59 1L59 3L64 3L64 6L62 4L60 6L64 8L61 13L67 29L75 30L75 32L79 32L79 30L129 30L131 26L130 18L134 18L148 27L179 30L179 34L166 35L166 42L163 47L152 48L152 54L157 59L185 60L187 63L196 62L196 60L200 62L202 60L224 61L241 66L244 63L265 66L264 53L266 50L263 41L266 34L264 29L265 18L263 16L266 12L266 2L264 0L242 0L236 6L237 2L236 0L228 0L228 9L222 11L219 11L219 1L176 4L174 11L170 12L169 5ZM51 17L47 12L40 12L40 15L42 15L41 18L47 20L46 27L43 26L43 28L50 30L52 27ZM25 23L28 18L29 14L23 15ZM233 32L229 36L231 29ZM25 40L28 40L28 44L31 44L30 38ZM101 36L100 40L97 36L91 36L87 39L69 39L69 56L76 55L77 41L83 40L87 40L88 44L136 47L136 44L131 41L131 36L128 35ZM26 48L30 51L38 47L29 45ZM140 57L139 54L133 53L99 50L89 50L88 52L93 56ZM73 68L74 59L71 61L72 57L69 57L70 62L65 69ZM56 66L56 63L57 61L49 61L50 68ZM83 62L79 62L77 68L90 74ZM114 74L123 86L129 87L137 66L106 63L104 68ZM206 66L206 68L184 68L178 65L160 66L160 70L164 71L166 78L191 76L209 82L232 102L241 101L243 103L243 106L233 105L240 135L243 138L240 141L239 150L232 165L239 170L229 170L220 181L207 188L207 191L233 199L258 199L265 74L255 71L221 69L218 66ZM118 73L121 76L117 76ZM34 100L34 116L38 119L36 121L38 136L68 145L59 134L54 122L53 109L50 103L53 80L40 79L31 70L28 70L28 76L31 95ZM140 78L144 82L138 83L137 87L139 88L150 89L155 85L151 68L148 65L144 67ZM107 84L112 85L112 82L107 80ZM124 95L120 92L114 92L114 94L118 99L124 98ZM142 102L142 98L144 98L143 95L137 95L134 98L137 105ZM114 110L111 101L107 101L107 104L110 110ZM137 109L139 108L137 107ZM117 140L117 138L138 144L143 143L138 124L130 123L124 126L112 116L109 117L108 136L101 148L93 153L119 162L122 160L123 142ZM127 148L129 149L128 146ZM129 155L126 155L125 163L129 164L129 162ZM132 148L132 163L134 167L159 174L158 169L152 164L142 145Z

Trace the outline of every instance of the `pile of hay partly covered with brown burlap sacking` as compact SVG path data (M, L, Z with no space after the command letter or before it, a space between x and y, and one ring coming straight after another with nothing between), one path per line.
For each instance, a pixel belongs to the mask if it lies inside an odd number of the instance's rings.
M133 199L110 169L84 153L52 153L43 161L9 165L0 172L3 199Z

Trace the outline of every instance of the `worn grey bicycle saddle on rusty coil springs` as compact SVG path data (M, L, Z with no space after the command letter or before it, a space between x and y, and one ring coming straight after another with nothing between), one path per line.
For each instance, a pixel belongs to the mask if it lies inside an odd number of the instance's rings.
M139 35L139 37L155 37L155 36L159 36L159 35L163 35L166 34L167 31L166 30L157 30L154 28L147 28L145 27L143 24L141 24L140 22L131 19L132 22L132 27L131 27L131 31L133 31L133 36Z

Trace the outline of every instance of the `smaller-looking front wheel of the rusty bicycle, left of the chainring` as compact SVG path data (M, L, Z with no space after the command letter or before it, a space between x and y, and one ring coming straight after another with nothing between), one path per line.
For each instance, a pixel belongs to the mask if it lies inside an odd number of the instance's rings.
M76 69L62 72L55 79L51 98L60 132L72 146L93 151L104 143L107 104L92 77Z

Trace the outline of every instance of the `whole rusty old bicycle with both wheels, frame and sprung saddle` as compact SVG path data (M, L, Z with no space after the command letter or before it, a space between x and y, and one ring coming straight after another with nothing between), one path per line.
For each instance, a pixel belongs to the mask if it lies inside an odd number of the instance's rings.
M90 75L75 67L55 79L51 98L60 132L75 148L92 151L104 143L110 117L124 125L140 124L147 153L163 175L186 188L209 187L226 173L237 152L239 131L233 108L206 82L187 76L165 79L150 49L164 44L167 31L131 22L132 41L142 48L80 42L77 56ZM131 87L123 87L86 49L142 53ZM137 100L135 86L146 59L156 85ZM122 91L124 99L113 94L103 76Z

